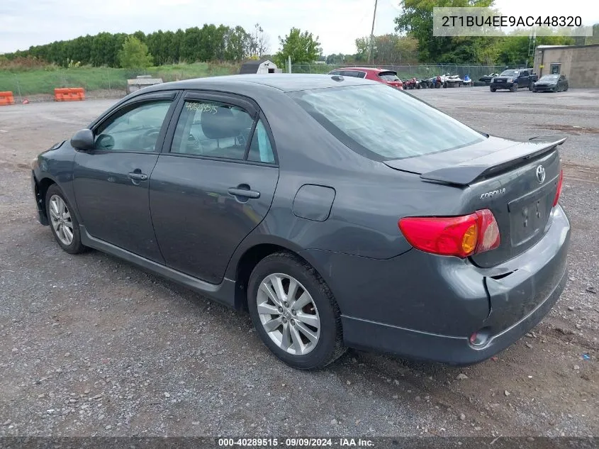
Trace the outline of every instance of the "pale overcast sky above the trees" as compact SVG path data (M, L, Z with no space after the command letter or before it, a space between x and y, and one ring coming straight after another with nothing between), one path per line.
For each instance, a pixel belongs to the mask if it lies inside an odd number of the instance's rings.
M379 0L374 33L393 33L399 0ZM584 25L599 23L599 1L496 0L502 13L517 16L552 13L581 16ZM0 53L26 50L55 40L102 31L151 33L203 23L244 27L260 23L279 50L279 35L292 26L319 37L323 54L354 53L356 38L370 34L374 0L0 0Z

